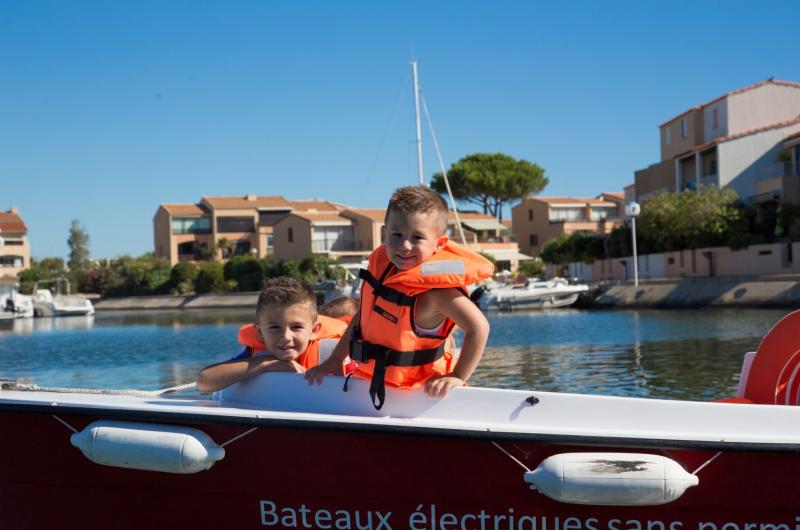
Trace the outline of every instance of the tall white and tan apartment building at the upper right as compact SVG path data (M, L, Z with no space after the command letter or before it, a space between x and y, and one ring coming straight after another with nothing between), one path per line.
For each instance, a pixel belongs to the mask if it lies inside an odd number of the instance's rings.
M661 160L635 172L638 201L714 185L755 204L800 202L800 83L767 79L696 105L659 131Z

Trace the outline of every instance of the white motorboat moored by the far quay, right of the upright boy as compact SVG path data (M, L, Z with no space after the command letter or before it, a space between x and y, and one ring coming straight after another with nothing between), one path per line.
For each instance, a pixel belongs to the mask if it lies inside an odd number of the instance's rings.
M484 311L549 309L570 306L581 293L588 290L588 285L570 285L563 278L546 281L529 280L519 286L489 284L483 286L478 302Z

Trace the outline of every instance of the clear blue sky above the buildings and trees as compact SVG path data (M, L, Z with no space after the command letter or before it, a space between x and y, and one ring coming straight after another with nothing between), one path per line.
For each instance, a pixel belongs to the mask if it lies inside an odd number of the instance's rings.
M380 207L416 182L409 60L446 164L504 152L543 195L622 190L657 126L800 81L797 2L0 0L0 209L32 254L152 250L164 202ZM425 169L436 170L425 135Z

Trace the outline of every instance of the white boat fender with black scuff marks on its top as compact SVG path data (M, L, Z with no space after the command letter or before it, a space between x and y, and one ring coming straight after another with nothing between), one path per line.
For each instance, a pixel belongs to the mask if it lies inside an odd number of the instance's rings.
M678 499L698 478L670 458L639 453L561 453L525 473L553 500L596 506L653 506Z

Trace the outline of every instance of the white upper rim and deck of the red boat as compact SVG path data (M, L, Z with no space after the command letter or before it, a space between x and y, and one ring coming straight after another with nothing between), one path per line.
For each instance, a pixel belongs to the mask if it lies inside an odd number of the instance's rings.
M568 442L800 449L798 407L458 388L444 399L387 389L386 405L376 411L367 382L351 380L346 393L342 383L342 378L328 377L321 386L309 387L300 375L265 374L226 389L216 400L2 390L0 410L49 408L51 414L59 409L75 414L77 408L81 414L96 410L106 416L186 415L187 421L202 416L224 423L258 420L266 425L274 420Z

